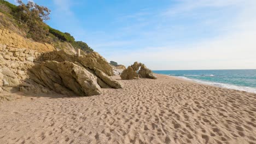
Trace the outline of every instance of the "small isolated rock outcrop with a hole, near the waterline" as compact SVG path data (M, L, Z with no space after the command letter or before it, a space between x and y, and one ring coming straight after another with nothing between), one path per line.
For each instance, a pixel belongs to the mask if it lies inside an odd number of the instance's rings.
M138 62L133 63L131 66L125 69L120 76L122 80L139 79L139 77L157 79L157 77L153 75L152 70L148 69L143 63Z

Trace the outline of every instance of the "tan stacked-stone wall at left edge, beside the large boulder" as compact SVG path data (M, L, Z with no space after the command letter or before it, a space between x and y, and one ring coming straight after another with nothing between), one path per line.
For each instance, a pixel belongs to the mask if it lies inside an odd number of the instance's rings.
M0 44L0 75L2 75L0 87L19 86L20 82L28 77L27 69L40 61L41 54L41 52L34 50Z

